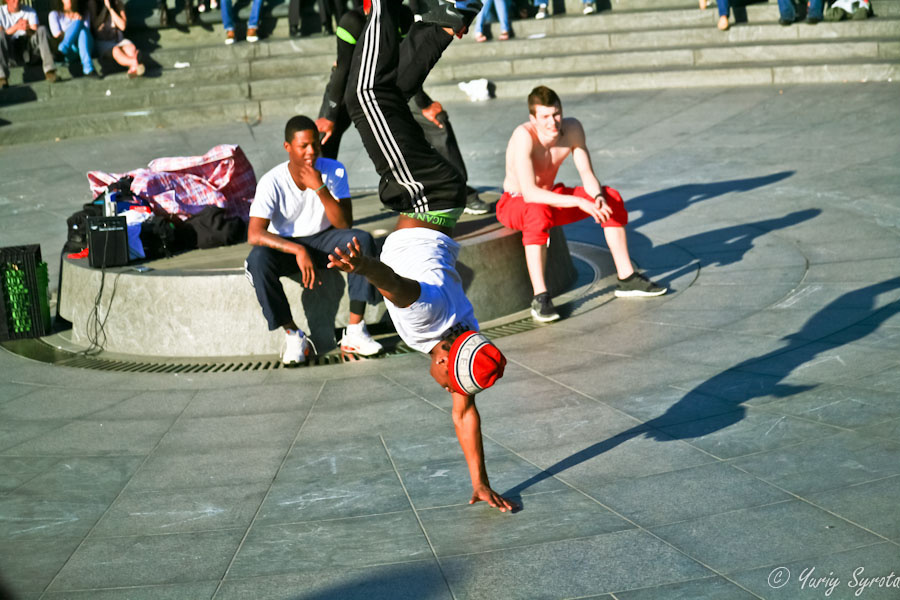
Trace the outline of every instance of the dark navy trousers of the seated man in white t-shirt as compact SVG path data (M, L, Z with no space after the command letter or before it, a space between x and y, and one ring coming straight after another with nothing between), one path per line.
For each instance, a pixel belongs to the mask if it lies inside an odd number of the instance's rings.
M328 264L328 253L334 252L335 246L346 248L347 243L353 240L354 236L359 240L359 246L364 255L376 256L375 240L372 239L369 232L361 229L329 227L315 235L288 239L302 244L309 252L313 264L318 269L325 269ZM300 271L300 267L297 266L297 258L293 254L265 246L254 246L244 262L244 269L256 290L256 299L262 306L269 331L284 327L293 321L291 307L279 278ZM366 304L377 304L380 300L375 287L365 277L355 273L347 275L347 292L350 300L358 300Z

